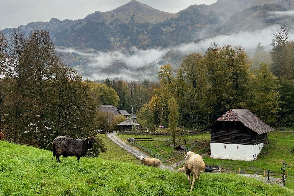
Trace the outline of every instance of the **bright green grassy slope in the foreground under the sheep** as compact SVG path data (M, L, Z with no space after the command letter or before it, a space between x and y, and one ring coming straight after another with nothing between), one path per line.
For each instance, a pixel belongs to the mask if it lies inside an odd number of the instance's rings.
M192 193L183 173L102 158L61 158L0 141L0 195L294 195L234 174L203 174Z

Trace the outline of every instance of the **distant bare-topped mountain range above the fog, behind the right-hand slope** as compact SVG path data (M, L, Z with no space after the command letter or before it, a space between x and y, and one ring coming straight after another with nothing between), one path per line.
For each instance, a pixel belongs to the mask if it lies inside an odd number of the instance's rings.
M192 5L176 14L159 11L132 0L114 10L89 14L83 19L33 22L20 28L50 30L56 45L98 51L175 46L210 35L231 15L264 0L218 0L211 5ZM292 0L271 0L292 6ZM8 33L11 29L4 29Z

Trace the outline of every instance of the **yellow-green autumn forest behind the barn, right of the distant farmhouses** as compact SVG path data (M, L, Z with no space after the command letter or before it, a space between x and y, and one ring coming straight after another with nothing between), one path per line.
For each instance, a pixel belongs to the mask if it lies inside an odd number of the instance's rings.
M202 129L229 109L249 109L265 123L292 127L294 122L293 40L280 26L270 53L258 43L250 57L241 46L213 41L207 51L182 58L177 70L161 65L159 82L104 81L116 90L119 109L137 113L145 128L168 126L168 100L176 99L178 127ZM103 103L111 104L111 103Z

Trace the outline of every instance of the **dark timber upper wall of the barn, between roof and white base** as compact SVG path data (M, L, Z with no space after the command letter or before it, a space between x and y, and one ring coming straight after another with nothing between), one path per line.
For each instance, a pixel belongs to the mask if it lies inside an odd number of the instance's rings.
M267 140L267 134L257 134L240 121L216 121L207 128L211 143L255 145Z

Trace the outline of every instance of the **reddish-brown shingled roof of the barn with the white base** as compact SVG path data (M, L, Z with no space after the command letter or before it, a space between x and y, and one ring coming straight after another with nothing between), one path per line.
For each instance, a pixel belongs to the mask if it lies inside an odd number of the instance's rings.
M244 126L248 127L259 135L270 131L275 131L273 127L265 124L248 109L230 109L223 116L220 116L216 121L240 121ZM206 129L210 129L210 127L211 125Z

